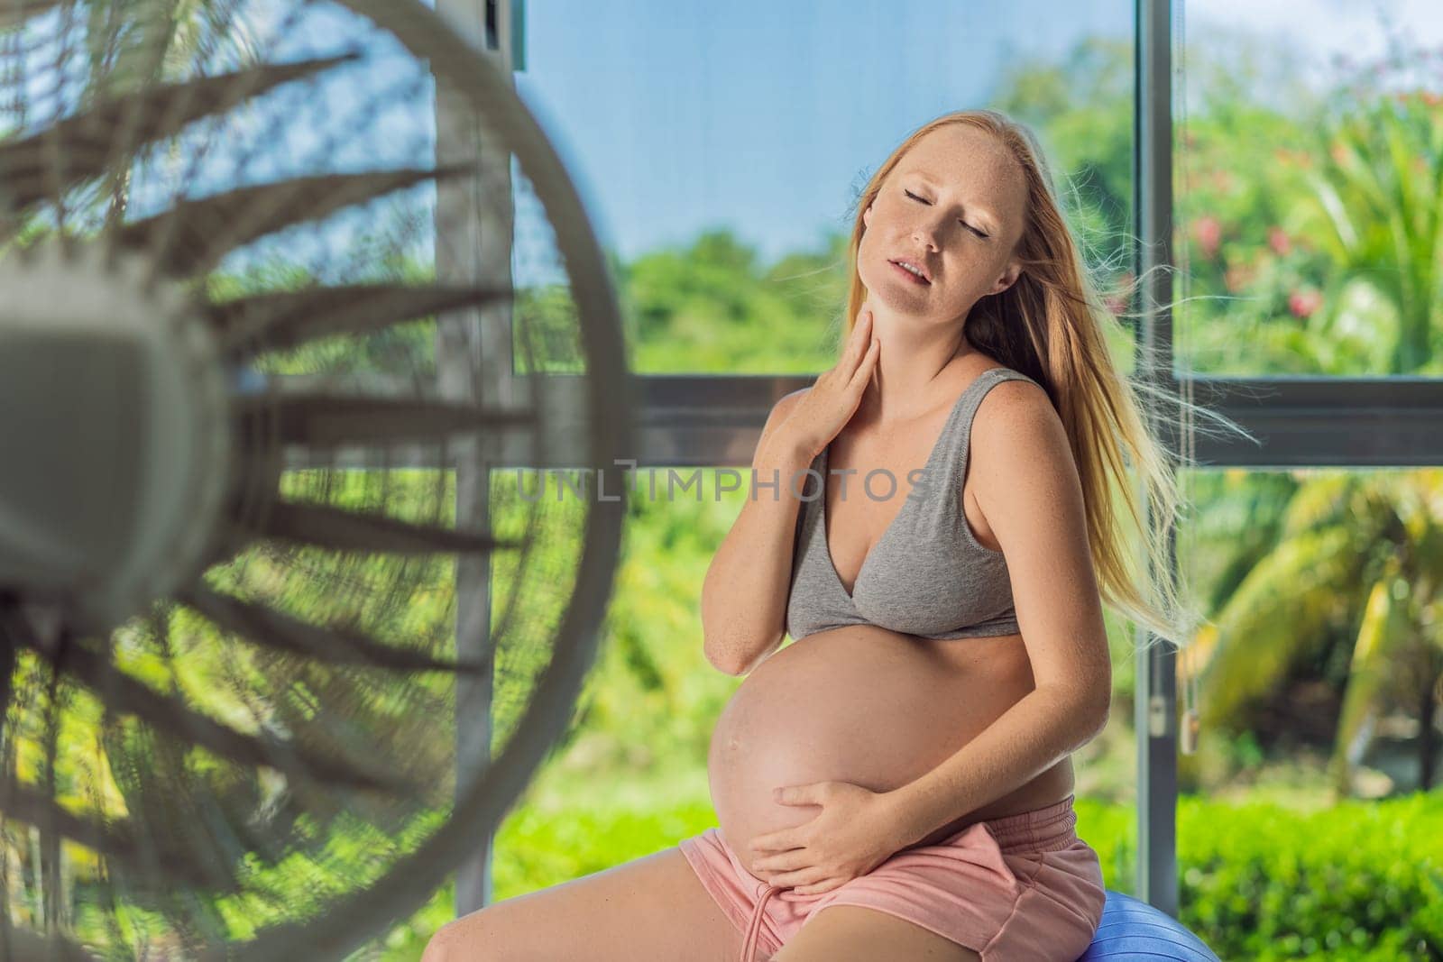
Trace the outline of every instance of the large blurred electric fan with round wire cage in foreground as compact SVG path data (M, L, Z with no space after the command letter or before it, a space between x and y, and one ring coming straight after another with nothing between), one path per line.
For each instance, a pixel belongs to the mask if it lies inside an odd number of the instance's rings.
M570 720L628 391L444 16L0 0L0 956L341 958L423 904Z

